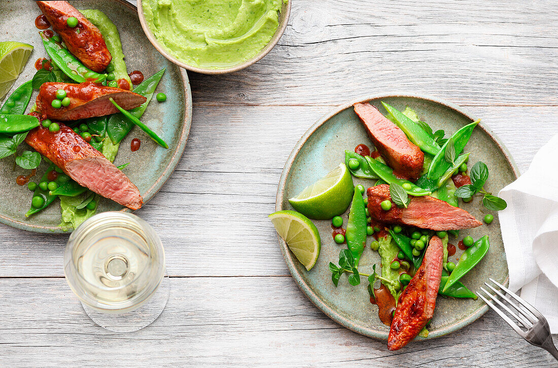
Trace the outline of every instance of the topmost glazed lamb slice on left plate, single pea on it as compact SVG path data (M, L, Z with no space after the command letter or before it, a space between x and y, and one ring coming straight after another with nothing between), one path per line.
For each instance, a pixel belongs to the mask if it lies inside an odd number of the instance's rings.
M67 1L37 1L36 3L52 29L62 37L68 50L81 60L83 65L97 73L107 68L112 56L99 28ZM70 17L78 19L77 26L68 26Z

